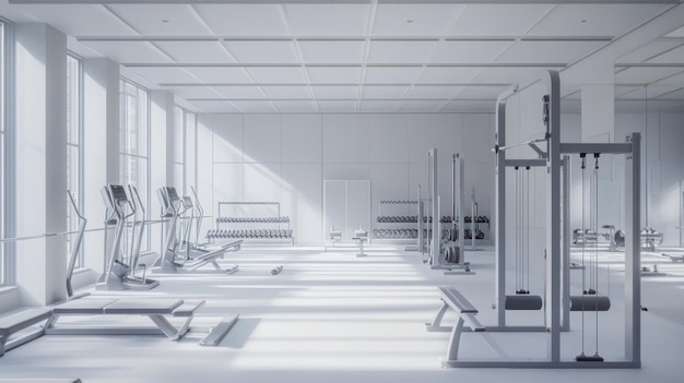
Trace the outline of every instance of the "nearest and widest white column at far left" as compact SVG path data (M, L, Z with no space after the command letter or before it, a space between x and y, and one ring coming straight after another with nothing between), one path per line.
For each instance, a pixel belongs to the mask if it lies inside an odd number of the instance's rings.
M46 24L17 24L16 235L67 229L67 36ZM16 283L24 304L66 297L63 236L20 241Z

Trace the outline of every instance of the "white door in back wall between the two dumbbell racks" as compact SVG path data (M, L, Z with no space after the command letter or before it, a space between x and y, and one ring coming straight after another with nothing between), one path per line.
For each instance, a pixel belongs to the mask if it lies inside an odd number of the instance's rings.
M370 231L370 181L323 181L323 238L331 228L351 241L357 229Z

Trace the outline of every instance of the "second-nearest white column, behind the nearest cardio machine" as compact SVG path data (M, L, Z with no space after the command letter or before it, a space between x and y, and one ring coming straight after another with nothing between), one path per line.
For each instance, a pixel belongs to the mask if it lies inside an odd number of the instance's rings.
M119 64L106 58L84 60L83 72L83 214L89 228L99 228L105 220L99 191L119 183L120 72ZM94 283L105 262L104 232L86 234L83 246L84 266L94 271L83 283Z

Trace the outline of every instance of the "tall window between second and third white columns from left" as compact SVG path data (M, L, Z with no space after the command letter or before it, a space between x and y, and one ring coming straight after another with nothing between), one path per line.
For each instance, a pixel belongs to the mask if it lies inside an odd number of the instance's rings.
M150 206L150 96L133 83L121 80L120 180L134 184L140 198ZM149 210L148 210L149 211ZM143 248L150 247L145 230ZM146 250L146 249L143 249Z

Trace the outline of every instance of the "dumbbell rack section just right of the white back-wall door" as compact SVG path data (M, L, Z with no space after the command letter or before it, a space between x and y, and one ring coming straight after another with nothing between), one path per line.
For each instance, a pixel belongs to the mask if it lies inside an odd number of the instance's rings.
M413 243L418 238L417 201L380 201L373 239L392 243Z

